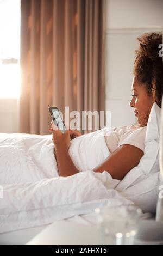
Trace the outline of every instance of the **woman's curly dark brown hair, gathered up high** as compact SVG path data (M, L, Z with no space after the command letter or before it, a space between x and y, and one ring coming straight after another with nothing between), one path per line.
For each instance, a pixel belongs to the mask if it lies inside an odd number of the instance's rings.
M140 38L140 47L136 50L134 75L140 84L144 84L149 95L161 107L163 90L163 62L159 56L162 33L145 33Z

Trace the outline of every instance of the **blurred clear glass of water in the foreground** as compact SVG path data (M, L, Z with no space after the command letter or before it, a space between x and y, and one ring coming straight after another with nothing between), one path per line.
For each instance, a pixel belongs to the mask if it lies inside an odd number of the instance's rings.
M124 205L116 208L96 209L102 245L133 245L140 208Z

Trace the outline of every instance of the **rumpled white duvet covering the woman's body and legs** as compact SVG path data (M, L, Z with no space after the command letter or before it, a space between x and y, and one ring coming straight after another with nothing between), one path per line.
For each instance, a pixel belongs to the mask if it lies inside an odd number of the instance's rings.
M80 173L58 176L51 136L0 134L0 233L34 227L97 207L133 204L116 191L119 180L91 170L110 153L107 128L73 139L69 154ZM131 184L130 184L131 186ZM131 198L130 194L127 197Z

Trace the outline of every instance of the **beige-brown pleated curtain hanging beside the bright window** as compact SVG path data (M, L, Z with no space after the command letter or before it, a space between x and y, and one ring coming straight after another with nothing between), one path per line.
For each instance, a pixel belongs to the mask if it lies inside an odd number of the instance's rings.
M49 106L104 110L103 0L21 0L20 132L47 134Z

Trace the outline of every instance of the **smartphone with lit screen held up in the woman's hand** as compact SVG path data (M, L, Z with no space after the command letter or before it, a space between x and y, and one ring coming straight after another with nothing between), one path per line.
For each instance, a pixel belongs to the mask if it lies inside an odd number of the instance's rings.
M59 128L59 130L61 130L61 132L64 133L65 130L67 130L67 129L65 127L64 121L61 118L58 108L57 107L49 107L48 109L52 115L52 119L53 119L55 126L57 126Z

